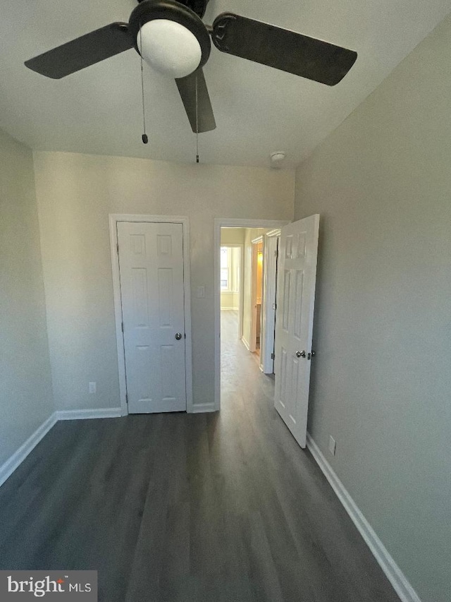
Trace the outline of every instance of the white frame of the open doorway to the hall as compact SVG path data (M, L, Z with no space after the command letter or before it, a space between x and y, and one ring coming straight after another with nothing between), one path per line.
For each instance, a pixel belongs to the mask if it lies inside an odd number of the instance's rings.
M214 218L214 409L221 409L221 289L219 287L221 228L281 228L290 219ZM244 253L242 253L244 257Z

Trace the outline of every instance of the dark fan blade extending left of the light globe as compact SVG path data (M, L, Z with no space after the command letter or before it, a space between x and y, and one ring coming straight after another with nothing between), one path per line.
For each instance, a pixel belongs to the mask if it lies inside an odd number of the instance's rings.
M25 66L42 76L60 79L132 47L127 23L110 23L25 61Z

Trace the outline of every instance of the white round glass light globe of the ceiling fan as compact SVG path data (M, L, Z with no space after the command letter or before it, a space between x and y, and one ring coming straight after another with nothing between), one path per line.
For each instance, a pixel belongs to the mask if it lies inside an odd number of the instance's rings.
M180 23L153 19L142 25L136 44L142 58L156 71L184 78L196 71L202 59L197 37Z

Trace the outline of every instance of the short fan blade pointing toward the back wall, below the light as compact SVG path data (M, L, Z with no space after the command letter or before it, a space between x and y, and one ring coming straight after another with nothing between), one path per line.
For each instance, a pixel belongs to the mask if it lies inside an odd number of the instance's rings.
M197 115L196 115L196 80L197 80ZM191 128L194 133L198 131L209 132L216 128L213 109L209 97L209 91L206 88L204 72L202 68L197 69L185 78L175 80L178 92L182 98L183 106L190 120ZM196 119L197 116L197 119ZM197 128L198 126L198 128Z

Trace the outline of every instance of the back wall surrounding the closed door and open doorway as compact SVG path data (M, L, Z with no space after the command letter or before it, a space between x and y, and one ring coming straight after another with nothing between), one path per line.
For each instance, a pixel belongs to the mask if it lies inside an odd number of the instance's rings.
M291 219L294 171L58 152L34 158L58 409L120 405L109 213L189 217L194 404L213 404L214 217ZM199 285L205 299L197 299Z

